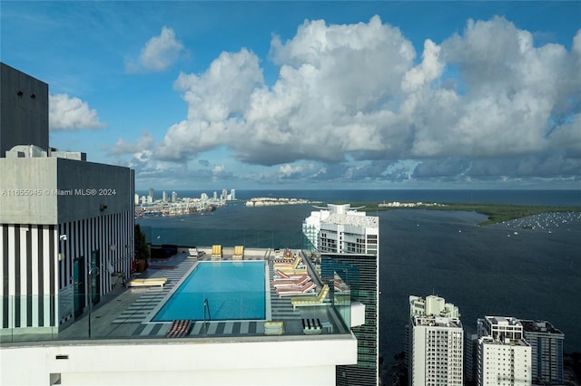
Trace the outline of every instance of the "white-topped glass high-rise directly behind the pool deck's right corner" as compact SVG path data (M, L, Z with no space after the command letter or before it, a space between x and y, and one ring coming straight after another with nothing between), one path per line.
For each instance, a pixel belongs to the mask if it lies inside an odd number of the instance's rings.
M320 207L317 246L321 276L350 287L352 304L365 307L364 323L351 330L358 340L356 365L337 366L338 385L379 384L379 217L350 204ZM312 218L305 223L314 223ZM303 226L304 229L304 226ZM305 235L307 236L307 235ZM307 236L308 237L308 236ZM332 286L331 286L332 287ZM331 296L332 297L332 296Z

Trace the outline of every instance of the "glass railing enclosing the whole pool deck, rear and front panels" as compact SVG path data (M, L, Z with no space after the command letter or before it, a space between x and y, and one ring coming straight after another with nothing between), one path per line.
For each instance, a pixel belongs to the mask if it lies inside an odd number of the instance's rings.
M61 289L57 295L3 296L0 303L0 343L111 340L111 339L201 339L241 336L286 335L317 339L327 334L350 334L350 289L340 275L320 277L320 259L300 232L270 232L221 229L143 229L152 251L161 254L135 278L170 277L167 285L129 287L111 282L91 293L90 278ZM191 236L183 236L184 234ZM219 234L219 235L217 235ZM157 238L160 236L160 238ZM156 244L155 240L162 243ZM231 259L233 246L244 246L244 259L267 260L268 288L257 291L182 291L175 297L182 276L178 265L212 261L211 253L191 259L185 251L224 246L223 260ZM206 246L206 247L203 247ZM304 256L308 274L316 287L310 293L282 295L271 286L274 250L291 248ZM270 253L267 253L270 251ZM159 251L158 251L159 252ZM165 256L168 255L168 256ZM154 258L152 252L152 259ZM105 262L103 262L105 265ZM103 266L102 272L107 272ZM186 275L187 270L181 270ZM171 275L170 275L171 274ZM84 282L83 282L84 279ZM68 279L67 279L68 280ZM262 282L264 283L264 282ZM321 290L329 291L320 299ZM34 288L34 285L33 285ZM93 301L90 301L92 299ZM170 309L168 307L172 307Z

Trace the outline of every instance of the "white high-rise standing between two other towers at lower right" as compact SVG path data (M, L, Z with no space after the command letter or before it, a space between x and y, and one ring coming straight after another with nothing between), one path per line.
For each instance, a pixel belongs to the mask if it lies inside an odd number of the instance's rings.
M478 319L478 337L478 386L531 384L531 348L517 318Z

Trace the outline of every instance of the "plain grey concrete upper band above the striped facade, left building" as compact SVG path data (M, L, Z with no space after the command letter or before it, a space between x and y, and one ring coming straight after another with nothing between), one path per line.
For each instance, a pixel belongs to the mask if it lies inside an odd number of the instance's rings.
M133 210L131 169L58 158L0 158L4 224L58 224Z

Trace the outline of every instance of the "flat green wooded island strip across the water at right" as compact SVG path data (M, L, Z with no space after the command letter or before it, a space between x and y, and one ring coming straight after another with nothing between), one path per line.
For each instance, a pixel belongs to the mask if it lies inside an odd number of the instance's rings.
M363 207L366 212L392 209L428 209L428 210L459 210L464 212L477 212L488 217L487 221L479 223L479 226L502 223L517 218L535 216L541 213L556 212L581 212L581 207L553 207L534 205L513 205L513 204L467 204L467 203L377 203L363 202L352 203L353 207Z

